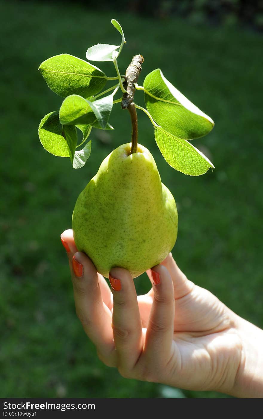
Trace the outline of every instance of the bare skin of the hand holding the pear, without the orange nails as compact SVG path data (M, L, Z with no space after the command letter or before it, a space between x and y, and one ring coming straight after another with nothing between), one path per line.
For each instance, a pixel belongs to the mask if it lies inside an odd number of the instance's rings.
M189 281L172 253L152 271L160 283L137 297L130 273L113 268L121 290L110 290L85 253L68 244L76 313L104 364L126 378L243 398L263 397L263 331L211 292ZM81 277L72 257L83 266Z

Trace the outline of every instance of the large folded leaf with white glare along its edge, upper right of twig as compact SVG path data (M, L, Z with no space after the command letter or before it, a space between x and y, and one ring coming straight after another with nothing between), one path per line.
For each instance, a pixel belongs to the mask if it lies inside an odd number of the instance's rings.
M143 87L148 112L175 137L187 140L203 137L214 127L213 120L183 96L160 69L146 76Z

